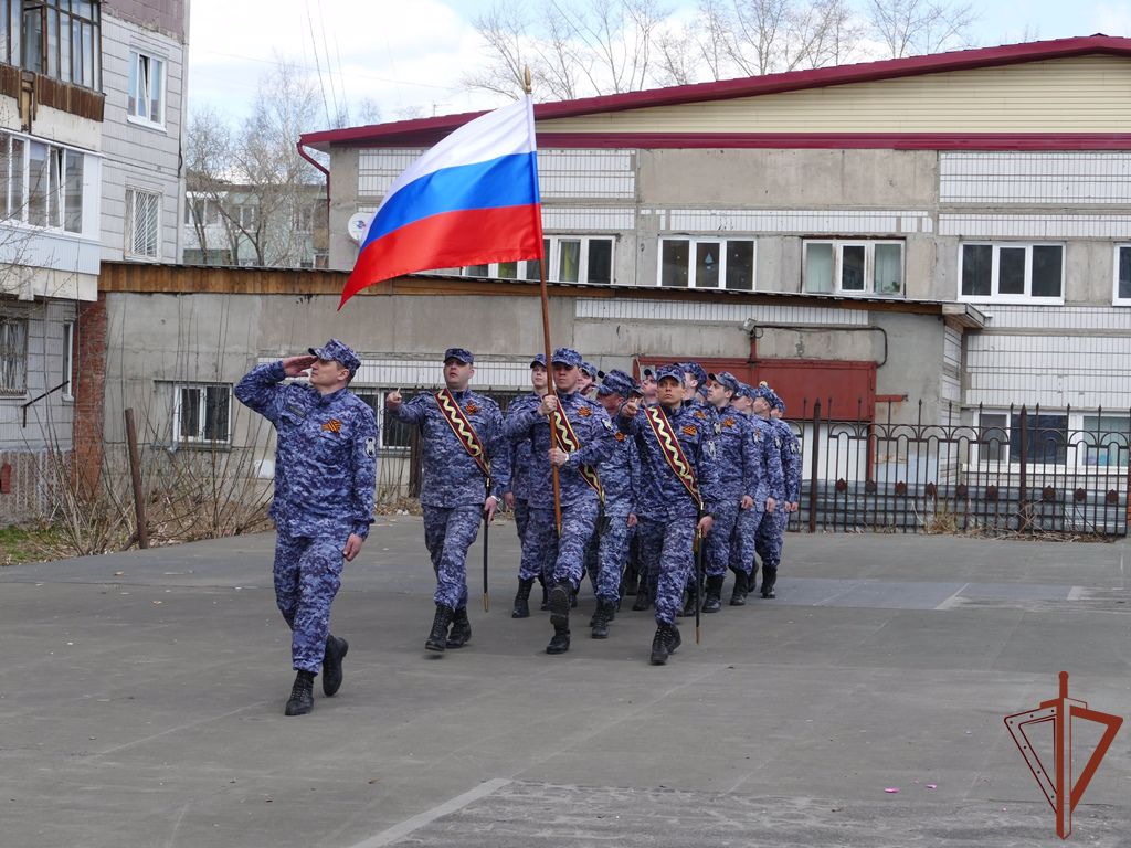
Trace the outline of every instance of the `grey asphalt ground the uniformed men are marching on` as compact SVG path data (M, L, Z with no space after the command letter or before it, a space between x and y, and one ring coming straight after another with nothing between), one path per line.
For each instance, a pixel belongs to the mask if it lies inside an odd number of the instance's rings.
M789 535L777 599L703 616L699 644L683 623L654 667L650 613L589 638L588 586L545 655L545 614L509 614L506 523L491 612L476 544L472 642L428 655L421 522L382 519L334 606L345 684L294 718L273 544L0 569L2 848L1052 846L1003 718L1061 670L1131 717L1122 542ZM1076 775L1100 729L1073 721ZM1131 845L1131 727L1072 824Z

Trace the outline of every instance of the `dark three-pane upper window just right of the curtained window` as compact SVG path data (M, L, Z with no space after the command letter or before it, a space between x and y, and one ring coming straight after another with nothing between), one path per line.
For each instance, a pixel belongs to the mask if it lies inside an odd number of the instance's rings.
M1064 302L1063 244L962 244L959 300Z

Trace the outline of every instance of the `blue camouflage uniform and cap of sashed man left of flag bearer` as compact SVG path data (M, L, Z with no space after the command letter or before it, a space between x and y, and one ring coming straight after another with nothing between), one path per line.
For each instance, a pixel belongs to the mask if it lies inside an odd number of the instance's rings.
M464 348L449 348L444 362L452 357L466 364L474 362ZM483 502L489 494L501 500L510 485L510 449L502 413L494 400L470 389L451 395L486 449L491 462L490 491L478 464L448 424L435 395L417 395L390 412L417 426L423 436L421 507L424 545L437 576L433 599L439 607L458 611L467 606L467 551L478 536Z

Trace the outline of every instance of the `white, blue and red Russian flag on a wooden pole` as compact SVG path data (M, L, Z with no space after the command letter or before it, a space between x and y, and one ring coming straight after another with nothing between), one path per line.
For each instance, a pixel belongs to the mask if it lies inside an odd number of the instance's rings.
M534 106L525 97L464 124L396 179L338 309L400 274L541 258Z

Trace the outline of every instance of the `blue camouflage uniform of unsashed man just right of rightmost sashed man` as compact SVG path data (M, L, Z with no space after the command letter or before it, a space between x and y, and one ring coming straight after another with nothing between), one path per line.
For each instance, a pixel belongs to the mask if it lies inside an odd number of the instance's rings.
M710 379L731 391L739 391L733 374L710 374ZM707 577L724 577L732 564L731 543L742 512L757 510L758 495L765 490L761 452L757 450L750 421L733 406L719 409L715 425L715 460L718 468L719 502L715 526L707 535ZM750 496L754 508L743 510L742 499ZM762 505L766 499L762 496ZM736 563L735 563L736 564Z

